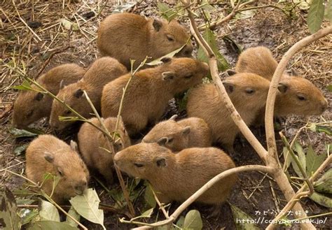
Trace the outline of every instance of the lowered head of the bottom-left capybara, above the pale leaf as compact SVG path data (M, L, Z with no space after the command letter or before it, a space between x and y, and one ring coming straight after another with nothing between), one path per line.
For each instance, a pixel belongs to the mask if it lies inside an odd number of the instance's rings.
M60 177L55 189L64 190L69 199L72 196L82 195L88 188L89 172L83 163L81 157L78 156L76 143L71 141L71 152L67 149L59 149L58 151L66 152L44 152L44 158L48 163L53 165L54 172ZM62 157L69 155L68 157Z

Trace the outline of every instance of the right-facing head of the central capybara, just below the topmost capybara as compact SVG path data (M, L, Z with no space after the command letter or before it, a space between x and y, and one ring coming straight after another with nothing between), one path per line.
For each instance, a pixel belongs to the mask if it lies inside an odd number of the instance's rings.
M202 78L209 73L209 66L205 62L188 57L165 58L162 61L165 62L160 66L162 80L165 81L166 87L173 89L175 94L200 84Z

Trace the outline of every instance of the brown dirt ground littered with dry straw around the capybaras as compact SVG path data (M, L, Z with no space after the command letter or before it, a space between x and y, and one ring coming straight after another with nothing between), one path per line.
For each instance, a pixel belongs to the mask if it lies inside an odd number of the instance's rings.
M55 55L50 64L46 66L46 70L68 62L74 62L87 68L94 59L99 57L96 47L96 32L106 15L109 15L116 8L114 1L74 1L68 4L67 1L2 1L1 3L1 59L4 64L11 64L29 76L36 76L36 73L46 63L49 55L57 50L62 50L67 46L71 46L58 55ZM263 4L263 1L260 3ZM32 6L33 5L33 6ZM170 6L174 6L170 4ZM218 10L212 14L215 17L219 12L225 13L223 8L225 4L214 5ZM97 15L99 9L102 13ZM139 1L136 6L130 9L130 12L140 13L146 16L158 16L156 1ZM249 48L256 45L265 45L270 48L273 55L279 61L291 45L299 41L301 38L309 35L306 26L306 12L296 10L294 17L290 19L281 10L277 8L260 8L256 10L253 17L247 19L231 20L215 30L218 36L219 48L223 55L232 66L235 66L238 53L232 45L225 43L223 37L228 36L242 48ZM34 34L27 29L22 23L24 19L30 27L34 28ZM63 18L67 18L71 22L78 22L80 27L78 31L69 31L64 29L61 22ZM188 20L180 20L188 27ZM328 92L326 86L332 82L331 57L332 57L332 36L326 36L320 41L313 43L307 48L301 50L289 64L291 73L296 73L311 80L314 85L319 87L326 99L331 105L332 95ZM9 168L16 173L24 174L25 157L24 155L15 156L14 150L20 145L29 143L31 138L13 138L11 130L11 114L13 103L18 92L11 89L13 85L19 85L22 79L16 73L6 67L0 69L0 168ZM300 127L310 122L326 122L332 120L332 108L319 117L287 117L282 122L281 129L290 140L296 134ZM39 122L36 127L43 129L47 133L51 132L45 122ZM259 130L254 130L259 141L265 145L265 135ZM279 136L276 132L276 136ZM72 135L62 136L67 141ZM139 137L138 137L139 138ZM327 143L331 143L331 136L321 134L305 129L299 136L300 143L307 147L312 145L314 150L321 152ZM279 152L282 150L282 142L278 139L277 145ZM237 140L235 142L235 150L240 152L240 161L237 166L247 164L262 164L261 159L254 152L246 141ZM11 190L22 185L23 180L6 173L0 169L0 186L7 186ZM109 195L104 189L92 180L90 187L96 187L102 203L112 204ZM242 173L240 181L237 183L233 193L228 199L229 203L240 208L251 217L265 217L272 220L274 212L281 210L286 204L282 193L273 182L272 178L264 173ZM307 210L307 215L317 215L319 213L327 213L328 209L319 206L310 199L301 201L303 208ZM134 204L139 205L139 199ZM172 204L170 212L175 210L177 203ZM188 210L198 209L202 215L204 229L235 229L233 217L230 212L228 203L223 205L222 213L218 219L208 218L209 207L193 205ZM139 208L137 208L139 213ZM257 212L261 211L261 215ZM262 214L266 211L266 214ZM162 216L162 213L159 215ZM119 217L123 217L121 213L105 212L105 226L107 229L127 229L131 226L121 224ZM320 219L323 219L321 217ZM161 219L160 219L161 220ZM89 229L100 229L96 224L83 222ZM260 228L264 228L267 224L258 224ZM319 229L330 229L332 222L327 221L325 224L316 225Z

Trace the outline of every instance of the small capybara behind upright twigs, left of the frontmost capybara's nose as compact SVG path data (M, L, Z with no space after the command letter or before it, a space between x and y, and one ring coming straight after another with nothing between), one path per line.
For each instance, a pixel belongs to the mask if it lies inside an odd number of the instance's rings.
M90 119L90 122L101 127L99 120L94 117ZM123 150L130 146L130 138L125 131L125 126L120 120L118 130L116 129L116 117L109 117L104 120L104 125L111 134L115 131L120 138L116 138L115 143L113 143L115 152ZM108 140L102 131L99 131L92 124L85 122L80 131L78 132L78 147L82 154L85 164L89 168L93 168L99 171L100 174L104 176L107 184L111 185L113 183L113 172L111 167L113 166L113 157L109 150ZM106 149L106 150L105 150Z

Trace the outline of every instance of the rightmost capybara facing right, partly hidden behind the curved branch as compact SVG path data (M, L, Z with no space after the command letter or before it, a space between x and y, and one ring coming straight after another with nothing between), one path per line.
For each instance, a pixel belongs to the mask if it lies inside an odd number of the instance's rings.
M256 73L268 80L272 79L277 61L268 48L258 46L242 52L237 61L235 71ZM283 74L279 82L279 92L275 101L275 116L287 115L321 115L328 102L309 80L299 76ZM258 114L256 125L264 124L265 108Z

